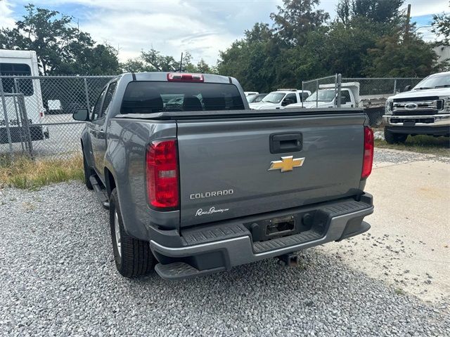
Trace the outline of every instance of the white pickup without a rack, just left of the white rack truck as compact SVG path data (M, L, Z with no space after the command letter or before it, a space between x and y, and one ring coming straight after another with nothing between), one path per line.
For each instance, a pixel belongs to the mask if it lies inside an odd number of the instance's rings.
M267 110L267 109L282 109L283 107L300 103L305 100L311 91L302 91L297 89L278 89L266 95L259 103L250 103L250 109L253 110Z

